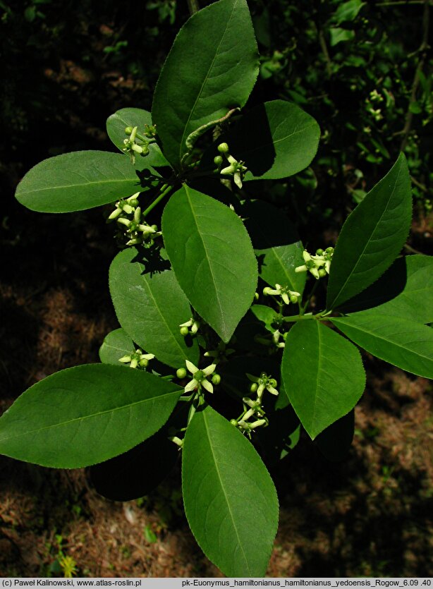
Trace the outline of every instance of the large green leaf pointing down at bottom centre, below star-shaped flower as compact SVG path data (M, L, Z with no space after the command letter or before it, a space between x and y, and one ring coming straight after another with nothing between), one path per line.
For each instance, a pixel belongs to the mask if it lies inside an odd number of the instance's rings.
M252 444L209 406L186 430L182 488L206 556L228 577L263 577L278 526L274 483Z

